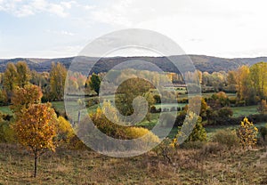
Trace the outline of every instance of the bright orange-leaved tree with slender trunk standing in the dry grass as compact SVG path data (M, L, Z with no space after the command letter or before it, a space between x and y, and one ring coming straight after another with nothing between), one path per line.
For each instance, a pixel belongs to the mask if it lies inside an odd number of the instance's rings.
M57 117L51 104L30 104L18 117L14 130L18 141L34 156L34 177L37 171L37 159L47 149L55 150L53 138L56 136Z

